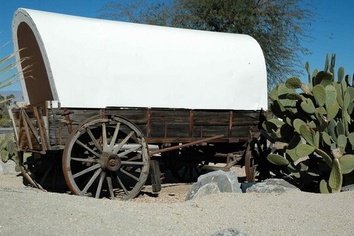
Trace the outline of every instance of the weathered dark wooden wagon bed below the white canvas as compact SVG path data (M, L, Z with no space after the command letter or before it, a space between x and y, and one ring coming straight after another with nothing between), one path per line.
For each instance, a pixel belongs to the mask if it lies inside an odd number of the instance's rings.
M46 108L12 110L16 139L21 150L63 150L72 130L91 116L115 114L142 130L149 144L188 143L207 137L212 142L248 142L258 131L261 111L219 111L161 108Z

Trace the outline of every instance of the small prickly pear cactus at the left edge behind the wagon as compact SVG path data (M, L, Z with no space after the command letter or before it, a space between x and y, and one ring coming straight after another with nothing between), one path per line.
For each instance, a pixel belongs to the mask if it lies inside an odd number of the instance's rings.
M9 159L12 159L13 162L16 162L16 172L20 171L17 147L16 142L13 139L13 134L6 133L4 136L0 137L0 157L2 162L8 162Z

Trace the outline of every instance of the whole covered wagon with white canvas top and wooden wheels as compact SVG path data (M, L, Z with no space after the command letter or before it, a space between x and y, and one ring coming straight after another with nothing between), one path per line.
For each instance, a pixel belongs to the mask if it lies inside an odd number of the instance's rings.
M228 169L267 108L248 35L18 9L13 43L33 77L13 128L23 176L41 189L62 176L72 193L129 199L149 174L159 191L158 163L181 181Z

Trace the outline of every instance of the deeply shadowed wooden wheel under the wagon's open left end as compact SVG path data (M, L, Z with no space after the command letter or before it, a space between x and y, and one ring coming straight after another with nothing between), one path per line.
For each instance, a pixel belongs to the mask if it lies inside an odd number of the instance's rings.
M43 191L66 191L62 174L62 152L18 152L18 164L23 179Z

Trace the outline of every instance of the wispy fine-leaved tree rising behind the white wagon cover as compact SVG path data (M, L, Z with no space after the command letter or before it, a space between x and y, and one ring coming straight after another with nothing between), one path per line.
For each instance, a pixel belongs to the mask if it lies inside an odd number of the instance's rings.
M268 89L289 76L302 74L301 55L309 54L312 6L303 0L132 0L109 2L101 18L159 26L243 33L263 49Z

